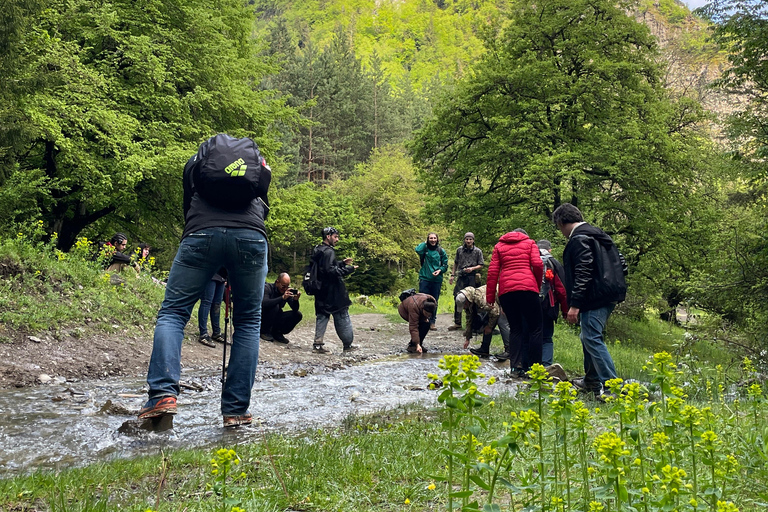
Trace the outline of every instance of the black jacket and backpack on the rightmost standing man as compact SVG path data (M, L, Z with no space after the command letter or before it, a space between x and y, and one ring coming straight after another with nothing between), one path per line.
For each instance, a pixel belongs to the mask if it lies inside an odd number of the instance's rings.
M600 228L582 224L573 230L563 266L570 307L590 311L622 302L627 294L619 250Z

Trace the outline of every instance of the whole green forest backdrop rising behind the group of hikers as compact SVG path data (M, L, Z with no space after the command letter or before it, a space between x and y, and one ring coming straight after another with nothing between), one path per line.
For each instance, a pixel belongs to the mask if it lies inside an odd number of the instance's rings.
M727 63L705 109L671 87L638 13ZM762 2L719 0L11 0L0 13L2 236L43 221L61 250L126 232L169 266L181 171L217 133L274 172L270 270L295 272L334 225L391 291L437 231L486 258L524 227L564 240L565 201L631 264L626 314L680 304L764 344L768 243ZM700 92L700 91L699 91Z

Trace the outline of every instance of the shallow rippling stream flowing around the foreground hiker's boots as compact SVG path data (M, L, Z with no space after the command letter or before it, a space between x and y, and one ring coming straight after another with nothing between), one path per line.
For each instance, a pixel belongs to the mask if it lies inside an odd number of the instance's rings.
M332 370L299 366L286 373L261 368L251 395L251 412L261 427L221 426L219 375L187 371L173 428L139 428L135 412L146 399L143 379L63 383L0 391L0 475L34 469L82 466L96 461L191 448L253 442L263 430L300 432L331 427L353 414L407 403L436 403L428 373L440 373L440 355L360 363ZM507 364L484 362L488 377L501 377ZM265 371L266 370L266 371ZM302 376L303 375L303 376Z

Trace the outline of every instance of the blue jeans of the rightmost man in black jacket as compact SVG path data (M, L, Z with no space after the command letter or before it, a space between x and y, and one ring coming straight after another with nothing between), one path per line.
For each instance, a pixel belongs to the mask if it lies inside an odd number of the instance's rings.
M581 324L581 347L584 351L584 383L605 385L605 381L616 378L616 368L603 340L603 331L608 317L615 306L579 313Z

